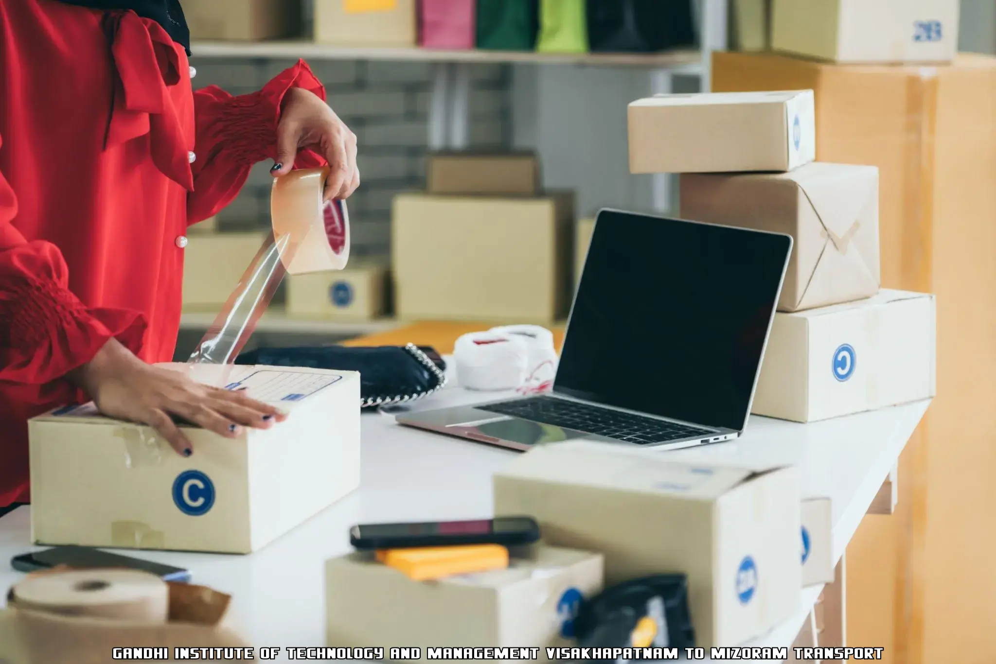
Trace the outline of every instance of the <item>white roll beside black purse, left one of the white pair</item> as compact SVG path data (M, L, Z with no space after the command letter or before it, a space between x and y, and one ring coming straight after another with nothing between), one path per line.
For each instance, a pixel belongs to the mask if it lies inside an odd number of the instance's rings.
M456 379L480 391L516 389L526 380L529 348L525 340L504 332L471 332L453 347Z

